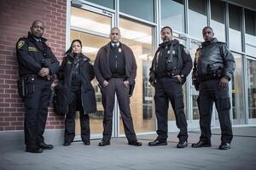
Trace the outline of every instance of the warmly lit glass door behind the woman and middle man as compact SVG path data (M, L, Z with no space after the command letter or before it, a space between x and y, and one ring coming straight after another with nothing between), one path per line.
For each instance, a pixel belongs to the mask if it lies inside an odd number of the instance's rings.
M96 59L99 48L109 42L109 31L112 27L113 13L84 4L82 8L71 7L70 42L80 39L83 44L83 54L89 57L92 63ZM96 91L97 111L90 115L90 133L91 139L99 139L102 138L103 132L102 94L96 79L92 84ZM76 139L80 139L79 113L76 116L76 134Z

